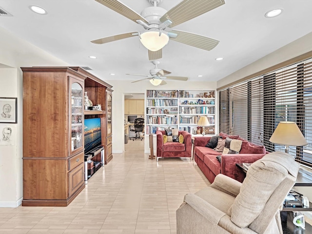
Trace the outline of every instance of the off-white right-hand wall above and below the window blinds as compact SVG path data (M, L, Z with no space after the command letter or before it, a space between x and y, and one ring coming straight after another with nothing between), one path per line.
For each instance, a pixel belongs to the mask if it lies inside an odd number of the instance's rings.
M312 33L281 47L273 53L251 63L250 65L234 72L233 74L217 81L217 88L235 80L250 76L273 65L295 58L299 55L312 51ZM312 170L311 170L312 174ZM312 201L312 187L296 187L296 191L306 195Z

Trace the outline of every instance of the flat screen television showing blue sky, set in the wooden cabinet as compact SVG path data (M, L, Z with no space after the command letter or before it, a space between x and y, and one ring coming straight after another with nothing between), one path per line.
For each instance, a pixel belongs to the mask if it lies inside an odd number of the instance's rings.
M101 144L101 119L84 119L84 153L90 152Z

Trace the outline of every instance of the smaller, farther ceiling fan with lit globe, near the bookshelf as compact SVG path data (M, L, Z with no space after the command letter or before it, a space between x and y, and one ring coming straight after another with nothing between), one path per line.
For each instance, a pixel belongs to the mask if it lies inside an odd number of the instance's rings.
M174 77L174 76L167 76L169 74L171 74L171 72L168 72L166 70L163 69L159 69L157 67L157 65L159 65L160 61L154 60L152 61L152 63L155 65L155 67L153 69L150 70L150 74L151 75L137 75L137 74L126 74L126 75L132 75L132 76L141 76L141 77L147 77L144 79L149 79L150 82L157 86L157 85L164 85L167 82L164 79L173 79L173 80L182 80L182 81L186 81L188 78L187 77ZM135 83L144 79L138 79L136 81L132 81L131 83Z

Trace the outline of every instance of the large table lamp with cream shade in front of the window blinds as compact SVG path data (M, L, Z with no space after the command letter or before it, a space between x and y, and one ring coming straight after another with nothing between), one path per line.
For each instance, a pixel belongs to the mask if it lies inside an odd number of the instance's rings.
M304 138L295 122L281 121L274 130L270 142L285 145L285 152L288 154L289 146L304 146L308 142Z

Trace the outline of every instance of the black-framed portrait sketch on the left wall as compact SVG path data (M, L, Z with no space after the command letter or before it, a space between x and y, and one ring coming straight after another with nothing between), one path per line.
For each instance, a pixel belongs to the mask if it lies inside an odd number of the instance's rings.
M18 122L18 98L0 98L0 123Z

